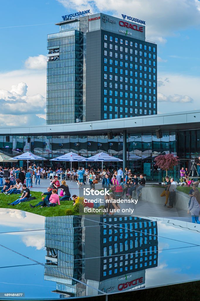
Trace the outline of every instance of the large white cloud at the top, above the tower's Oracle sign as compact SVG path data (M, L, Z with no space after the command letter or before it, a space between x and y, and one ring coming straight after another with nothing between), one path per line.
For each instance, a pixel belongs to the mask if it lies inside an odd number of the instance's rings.
M57 0L69 9L85 10L91 8L92 13L110 12L116 17L129 14L138 19L146 20L147 39L159 43L165 42L165 36L174 35L178 30L192 28L200 23L200 2L198 0Z

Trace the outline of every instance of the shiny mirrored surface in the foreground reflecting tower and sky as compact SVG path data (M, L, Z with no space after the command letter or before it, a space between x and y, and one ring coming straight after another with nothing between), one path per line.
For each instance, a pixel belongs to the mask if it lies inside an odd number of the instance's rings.
M200 279L200 225L0 210L0 292L74 298Z

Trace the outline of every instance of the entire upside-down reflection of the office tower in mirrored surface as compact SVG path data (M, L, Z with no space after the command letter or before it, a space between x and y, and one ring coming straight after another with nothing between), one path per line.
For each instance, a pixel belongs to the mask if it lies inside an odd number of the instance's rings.
M145 270L158 264L157 222L148 219L47 217L45 229L44 279L56 281L54 292L61 297L96 295L96 289L110 293L144 287ZM55 265L66 277L48 265Z

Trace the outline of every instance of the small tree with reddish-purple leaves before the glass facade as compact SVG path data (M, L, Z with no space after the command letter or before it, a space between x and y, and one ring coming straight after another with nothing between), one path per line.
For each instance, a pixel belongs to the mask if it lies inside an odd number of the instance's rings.
M168 170L173 169L173 167L177 166L179 163L178 157L174 157L172 154L157 156L154 161L156 162L156 166L162 170L166 170L166 176Z

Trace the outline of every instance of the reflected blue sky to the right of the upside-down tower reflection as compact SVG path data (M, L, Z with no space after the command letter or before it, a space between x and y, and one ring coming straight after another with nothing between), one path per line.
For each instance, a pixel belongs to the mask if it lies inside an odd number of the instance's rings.
M200 233L195 230L198 228L200 231L200 227L196 225L193 230L190 230L180 228L178 225L191 228L192 223L182 221L175 221L176 225L172 223L174 223L173 220L157 223L158 267L146 270L146 288L200 279L198 259L200 246L195 246L200 242ZM170 239L161 236L170 237Z

